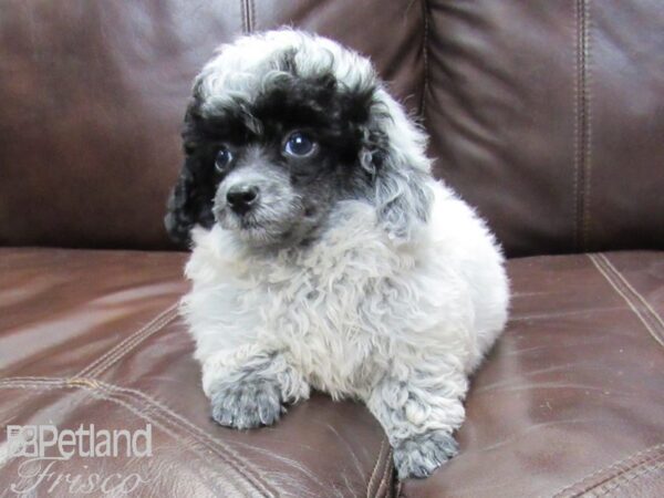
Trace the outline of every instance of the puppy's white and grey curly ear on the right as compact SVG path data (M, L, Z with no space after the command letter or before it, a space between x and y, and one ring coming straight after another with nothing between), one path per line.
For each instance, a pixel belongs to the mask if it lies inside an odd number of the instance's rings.
M426 136L390 95L378 90L376 96L360 162L374 178L378 221L392 238L407 241L427 222L434 198Z

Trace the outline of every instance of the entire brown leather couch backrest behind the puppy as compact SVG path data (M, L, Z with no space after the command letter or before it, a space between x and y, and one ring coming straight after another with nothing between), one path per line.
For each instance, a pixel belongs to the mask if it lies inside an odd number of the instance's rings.
M664 246L660 0L8 0L0 243L173 248L191 80L284 23L372 56L508 255Z

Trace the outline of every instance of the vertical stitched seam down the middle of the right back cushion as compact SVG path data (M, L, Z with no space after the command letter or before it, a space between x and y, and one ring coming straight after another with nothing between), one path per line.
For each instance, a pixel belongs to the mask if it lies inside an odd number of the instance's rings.
M583 94L585 103L583 105L585 115L584 132L584 170L583 170L583 249L590 247L590 191L592 185L592 71L591 71L591 40L592 29L591 0L584 0L585 22L583 30Z

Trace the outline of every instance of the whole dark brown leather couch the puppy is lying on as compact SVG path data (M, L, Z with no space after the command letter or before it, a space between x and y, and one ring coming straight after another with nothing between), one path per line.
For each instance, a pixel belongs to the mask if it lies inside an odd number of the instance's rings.
M240 433L199 387L162 225L179 123L217 44L283 23L372 56L510 257L509 326L426 480L394 480L361 405ZM0 245L2 429L153 430L152 457L40 483L3 434L0 496L129 473L154 497L664 496L661 0L4 0Z

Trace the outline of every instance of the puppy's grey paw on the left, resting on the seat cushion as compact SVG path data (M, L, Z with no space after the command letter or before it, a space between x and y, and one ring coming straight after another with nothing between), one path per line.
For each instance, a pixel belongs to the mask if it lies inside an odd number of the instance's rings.
M252 378L222 384L210 396L212 418L239 429L272 425L284 412L276 380Z

